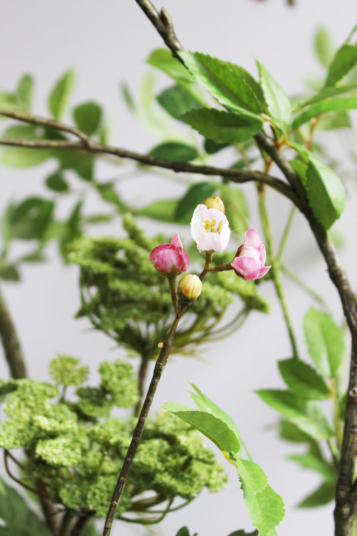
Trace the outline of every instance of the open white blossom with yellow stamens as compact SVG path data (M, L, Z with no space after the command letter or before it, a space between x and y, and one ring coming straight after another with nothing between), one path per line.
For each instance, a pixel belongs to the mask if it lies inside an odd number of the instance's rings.
M223 212L198 205L192 215L191 234L199 251L224 251L231 230Z

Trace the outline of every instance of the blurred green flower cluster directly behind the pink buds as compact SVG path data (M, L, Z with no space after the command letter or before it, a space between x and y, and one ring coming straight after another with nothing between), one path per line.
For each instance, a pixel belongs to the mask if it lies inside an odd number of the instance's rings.
M147 362L157 357L157 345L165 340L173 321L167 280L149 260L150 251L165 239L148 239L130 215L124 217L123 226L126 238L84 236L72 244L69 259L81 269L77 316L87 316L96 329ZM232 258L232 253L215 254L217 264ZM224 323L227 306L236 297L239 312ZM238 327L252 309L268 311L267 301L252 281L243 281L233 271L210 273L200 299L185 313L173 352L194 354L195 347L210 337L224 336L227 326Z

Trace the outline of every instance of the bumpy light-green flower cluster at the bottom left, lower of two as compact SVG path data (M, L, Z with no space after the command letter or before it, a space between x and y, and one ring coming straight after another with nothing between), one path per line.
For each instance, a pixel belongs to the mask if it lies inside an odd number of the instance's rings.
M21 478L27 485L36 487L41 479L53 502L81 515L105 517L135 426L135 419L111 413L134 406L139 395L130 364L103 362L98 372L98 386L83 385L88 367L60 355L50 363L54 384L3 382L0 446L25 450ZM159 413L143 433L117 517L128 513L138 523L153 523L170 511L176 497L189 502L204 486L218 492L225 481L200 434ZM151 510L162 503L164 510Z

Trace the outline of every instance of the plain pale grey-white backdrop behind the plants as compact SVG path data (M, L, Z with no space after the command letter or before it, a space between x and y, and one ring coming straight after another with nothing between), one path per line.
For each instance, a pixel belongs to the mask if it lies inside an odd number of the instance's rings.
M328 28L338 46L356 23L357 2L297 0L295 8L288 8L283 0L166 0L165 8L186 49L200 50L238 63L254 76L254 58L257 58L285 91L293 95L303 89L304 77L323 73L312 55L316 28L320 25ZM47 115L45 99L51 86L59 75L72 67L77 73L73 105L86 100L102 103L111 118L113 145L145 152L157 142L153 133L128 112L119 96L119 83L123 80L136 90L148 70L145 59L151 50L163 46L134 0L2 0L0 16L1 90L11 91L21 75L32 73L36 80L33 111ZM158 88L170 85L170 80L162 76L157 80ZM70 117L66 120L70 121ZM347 140L345 134L329 135L326 139L331 151L336 150L343 158L347 158L355 142L354 138ZM31 171L1 167L0 210L10 199L20 200L30 193L45 192L44 177L51 170L54 170L54 163L45 163ZM341 256L355 288L355 177L350 160L345 161L341 172L348 191L348 205L336 228L346 235ZM115 168L109 170L102 166L98 178L109 180L115 173L118 173ZM140 180L140 176L134 174L130 180L120 182L120 192L132 203L145 204L147 198L156 194L154 187L145 192L146 177ZM157 183L154 184L157 188ZM79 181L77 185L80 186ZM161 181L158 185L159 197L172 195L170 182ZM251 224L259 227L255 218L254 189L251 185L244 189L250 200ZM48 191L45 193L50 195ZM95 209L95 203L96 199L93 199L88 209ZM69 206L63 204L63 215ZM277 244L290 204L270 193L269 207ZM148 232L153 232L152 229L150 225ZM117 234L119 224L100 232ZM341 322L337 293L307 225L299 215L294 220L285 260L317 292L326 295L336 320ZM120 349L113 349L111 341L104 335L88 330L88 322L73 319L79 304L77 276L77 268L64 267L52 247L47 264L28 265L22 270L20 284L2 285L16 320L29 375L33 378L48 378L47 363L58 352L78 356L94 370L101 360L124 355ZM277 415L253 392L254 389L282 387L276 361L291 355L274 289L271 284L263 285L261 289L271 301L272 314L252 314L244 330L204 352L206 362L180 356L170 359L155 407L168 400L189 405L188 381L200 386L219 406L230 412L254 460L262 465L271 486L283 496L287 515L278 527L279 536L298 536L302 532L329 535L333 533L332 505L313 511L294 508L318 486L320 478L285 459L299 447L277 441L276 431L270 427L276 422ZM285 289L301 356L306 358L301 319L311 302L290 281L286 281ZM8 376L3 363L1 373L5 378ZM217 456L220 456L218 451ZM200 536L227 536L238 528L252 531L237 475L233 467L228 467L227 471L230 480L223 493L209 495L202 492L186 509L172 513L160 526L153 528L165 536L174 536L183 525ZM130 536L149 532L140 526L117 524L113 535L119 534Z

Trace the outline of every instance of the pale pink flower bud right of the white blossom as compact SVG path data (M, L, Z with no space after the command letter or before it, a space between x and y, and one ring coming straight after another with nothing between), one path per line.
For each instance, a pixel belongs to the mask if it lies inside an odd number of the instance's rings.
M238 248L237 256L231 263L238 276L245 281L265 276L271 266L264 266L267 260L265 247L256 229L248 229L244 235L244 244Z

